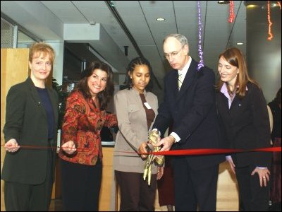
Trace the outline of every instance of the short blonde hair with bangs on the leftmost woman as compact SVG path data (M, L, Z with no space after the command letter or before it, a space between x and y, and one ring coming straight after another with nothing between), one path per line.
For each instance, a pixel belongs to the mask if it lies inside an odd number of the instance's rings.
M36 42L30 47L28 60L32 62L32 59L39 57L41 53L43 54L43 57L46 57L48 54L51 64L53 65L55 59L55 51L50 45L47 45L47 43L44 42Z

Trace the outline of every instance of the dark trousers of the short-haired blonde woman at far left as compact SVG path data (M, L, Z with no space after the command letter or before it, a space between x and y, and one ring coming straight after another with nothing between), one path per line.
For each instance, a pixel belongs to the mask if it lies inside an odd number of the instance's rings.
M49 210L54 179L53 163L53 154L49 151L47 160L47 175L42 184L5 182L4 196L6 211Z

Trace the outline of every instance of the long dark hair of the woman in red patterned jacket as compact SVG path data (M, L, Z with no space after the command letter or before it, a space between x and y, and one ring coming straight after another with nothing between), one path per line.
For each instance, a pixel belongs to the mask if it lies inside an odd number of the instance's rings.
M100 110L105 110L110 98L114 95L113 71L108 64L105 64L102 61L93 61L90 66L82 71L80 81L78 81L72 92L79 90L82 92L85 99L91 99L92 95L87 84L87 79L92 76L95 69L101 69L108 74L105 90L99 92L97 95L100 103Z

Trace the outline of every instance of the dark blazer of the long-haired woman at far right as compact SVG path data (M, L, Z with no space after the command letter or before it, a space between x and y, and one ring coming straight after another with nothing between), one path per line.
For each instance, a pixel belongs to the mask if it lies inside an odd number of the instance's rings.
M270 146L269 114L262 90L255 84L247 83L245 97L238 95L228 108L228 98L216 92L216 105L226 148L264 148ZM271 153L236 153L232 155L237 167L255 165L269 167Z

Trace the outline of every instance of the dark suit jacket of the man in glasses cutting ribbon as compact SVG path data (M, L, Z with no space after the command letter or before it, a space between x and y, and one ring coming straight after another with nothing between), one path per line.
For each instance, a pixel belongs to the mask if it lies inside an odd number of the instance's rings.
M171 131L180 141L172 149L219 148L220 134L216 116L214 72L204 66L197 71L197 62L192 59L185 79L178 91L178 71L170 71L164 78L164 102L154 122L163 134L169 122ZM187 156L192 168L200 169L221 163L223 155Z

